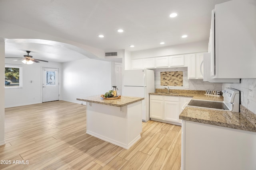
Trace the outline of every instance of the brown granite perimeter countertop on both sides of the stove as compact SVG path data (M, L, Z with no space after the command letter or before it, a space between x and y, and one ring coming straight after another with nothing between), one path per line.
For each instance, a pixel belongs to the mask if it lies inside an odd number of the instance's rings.
M152 92L150 95L190 97L197 100L218 102L224 100L222 96L206 96L204 95L204 91L197 90L170 90L170 93L167 93L162 89L158 89L158 92ZM250 111L242 105L240 105L240 111L241 113L226 110L185 107L182 113L180 113L179 118L198 123L256 132L256 115L250 113Z

